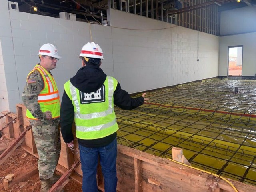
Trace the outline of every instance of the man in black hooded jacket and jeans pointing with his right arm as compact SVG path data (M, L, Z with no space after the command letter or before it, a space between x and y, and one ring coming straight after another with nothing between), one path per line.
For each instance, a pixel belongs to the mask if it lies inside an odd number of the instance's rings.
M83 171L83 192L97 192L98 156L104 176L105 192L116 192L117 141L114 104L124 110L134 109L148 100L145 94L131 98L113 77L99 67L102 49L94 42L80 52L82 68L64 84L60 109L60 127L64 141L73 147L72 123L76 123L80 160Z

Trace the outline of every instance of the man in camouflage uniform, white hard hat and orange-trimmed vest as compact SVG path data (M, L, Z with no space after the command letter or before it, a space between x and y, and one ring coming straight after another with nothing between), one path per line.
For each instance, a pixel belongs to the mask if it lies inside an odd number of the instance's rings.
M30 118L39 155L38 170L41 192L60 178L54 174L60 157L60 101L58 88L50 70L56 67L58 52L54 45L39 50L40 63L28 74L22 100Z

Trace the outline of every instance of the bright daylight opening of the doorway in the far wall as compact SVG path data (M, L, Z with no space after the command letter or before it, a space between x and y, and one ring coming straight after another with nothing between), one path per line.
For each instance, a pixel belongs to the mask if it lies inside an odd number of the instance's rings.
M243 46L228 47L228 76L242 76Z

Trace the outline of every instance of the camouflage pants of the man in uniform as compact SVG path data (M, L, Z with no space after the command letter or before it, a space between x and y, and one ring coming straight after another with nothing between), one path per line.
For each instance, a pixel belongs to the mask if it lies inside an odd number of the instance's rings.
M39 178L49 179L53 176L60 158L59 122L50 125L33 125L32 130L39 155Z

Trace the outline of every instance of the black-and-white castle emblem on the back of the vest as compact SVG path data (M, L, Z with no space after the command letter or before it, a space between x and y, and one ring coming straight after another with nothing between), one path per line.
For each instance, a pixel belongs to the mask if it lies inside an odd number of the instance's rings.
M80 91L81 104L105 102L105 85L103 84L97 91L84 93Z

